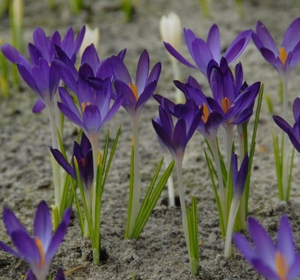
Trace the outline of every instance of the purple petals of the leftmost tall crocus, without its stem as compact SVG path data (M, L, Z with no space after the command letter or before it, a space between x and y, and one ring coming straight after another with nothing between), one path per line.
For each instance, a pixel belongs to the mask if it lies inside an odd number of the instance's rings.
M43 29L36 28L33 32L34 44L28 44L31 62L11 45L2 45L1 50L5 57L18 66L24 81L38 94L39 98L33 107L34 113L40 112L45 105L51 108L53 96L57 91L60 77L51 67L55 58L55 46L59 46L74 64L84 33L85 26L81 28L78 36L74 39L74 32L70 27L61 40L58 31L55 31L51 37L47 37Z

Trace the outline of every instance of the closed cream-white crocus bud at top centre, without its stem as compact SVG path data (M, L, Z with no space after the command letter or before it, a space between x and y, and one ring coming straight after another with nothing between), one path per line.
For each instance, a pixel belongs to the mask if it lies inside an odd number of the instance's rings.
M164 42L171 44L177 51L181 45L181 22L177 14L170 12L160 20L160 34ZM172 57L172 59L174 59Z

